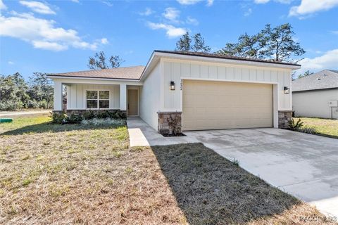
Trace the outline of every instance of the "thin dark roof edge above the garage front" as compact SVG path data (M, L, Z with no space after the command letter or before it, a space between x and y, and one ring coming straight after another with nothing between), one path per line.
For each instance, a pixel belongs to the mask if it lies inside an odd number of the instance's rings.
M223 59L232 59L232 60L242 60L242 61L251 61L251 62L259 62L259 63L274 63L274 64L281 64L281 65L294 65L294 66L301 66L296 63L285 63L275 60L264 60L264 59L256 59L256 58L245 58L245 57L237 57L237 56L227 56L221 55L217 53L204 53L204 52L196 52L196 51L163 51L163 50L155 50L155 53L171 53L177 55L185 55L185 56L200 56L200 57L208 57L208 58L223 58Z

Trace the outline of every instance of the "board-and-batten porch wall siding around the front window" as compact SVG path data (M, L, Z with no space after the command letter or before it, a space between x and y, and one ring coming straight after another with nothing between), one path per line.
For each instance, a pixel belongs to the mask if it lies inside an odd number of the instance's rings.
M67 108L69 110L86 109L86 91L109 91L109 108L120 108L120 86L103 84L68 84Z

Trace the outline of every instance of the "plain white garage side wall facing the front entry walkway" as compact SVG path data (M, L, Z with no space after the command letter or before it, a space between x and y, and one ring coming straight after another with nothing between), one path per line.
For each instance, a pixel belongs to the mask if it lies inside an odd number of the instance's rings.
M157 130L161 96L161 64L150 72L139 89L139 117Z

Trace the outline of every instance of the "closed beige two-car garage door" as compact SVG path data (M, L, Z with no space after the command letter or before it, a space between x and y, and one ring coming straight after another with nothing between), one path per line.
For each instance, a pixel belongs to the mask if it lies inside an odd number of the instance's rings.
M184 80L184 131L273 127L273 86Z

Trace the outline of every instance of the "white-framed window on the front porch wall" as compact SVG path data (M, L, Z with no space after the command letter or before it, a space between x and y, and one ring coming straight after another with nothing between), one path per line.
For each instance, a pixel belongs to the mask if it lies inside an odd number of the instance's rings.
M87 108L109 108L109 91L87 91Z

